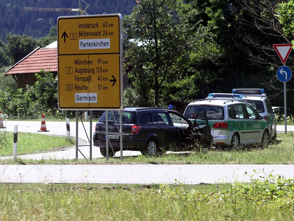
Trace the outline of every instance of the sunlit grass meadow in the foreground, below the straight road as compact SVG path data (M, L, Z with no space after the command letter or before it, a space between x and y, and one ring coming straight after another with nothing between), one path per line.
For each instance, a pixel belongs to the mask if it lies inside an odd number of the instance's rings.
M293 220L291 181L251 184L1 184L6 220ZM282 193L281 193L282 192Z

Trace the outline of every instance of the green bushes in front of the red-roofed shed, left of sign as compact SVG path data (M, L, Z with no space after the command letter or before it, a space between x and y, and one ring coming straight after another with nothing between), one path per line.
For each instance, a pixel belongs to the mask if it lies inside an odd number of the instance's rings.
M0 91L0 110L21 119L40 118L42 113L46 117L61 118L57 106L57 78L51 72L35 74L37 82L33 86L13 89L7 87L6 91ZM68 112L67 116L74 116ZM66 116L66 117L67 117Z

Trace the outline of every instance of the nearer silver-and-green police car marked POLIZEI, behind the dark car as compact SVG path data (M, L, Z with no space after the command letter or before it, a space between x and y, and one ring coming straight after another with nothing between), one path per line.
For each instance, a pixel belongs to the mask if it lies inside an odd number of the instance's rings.
M184 116L191 121L205 111L214 146L237 149L246 144L269 144L268 123L242 95L209 94L208 98L189 103Z

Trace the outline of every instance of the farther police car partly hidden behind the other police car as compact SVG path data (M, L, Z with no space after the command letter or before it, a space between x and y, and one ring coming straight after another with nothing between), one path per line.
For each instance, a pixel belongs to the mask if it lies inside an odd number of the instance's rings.
M264 93L264 89L233 89L232 93L243 95L243 98L245 98L248 103L250 103L257 110L257 112L263 116L263 119L268 122L270 138L272 140L276 140L277 121L275 113L279 113L279 110L272 109L272 105Z

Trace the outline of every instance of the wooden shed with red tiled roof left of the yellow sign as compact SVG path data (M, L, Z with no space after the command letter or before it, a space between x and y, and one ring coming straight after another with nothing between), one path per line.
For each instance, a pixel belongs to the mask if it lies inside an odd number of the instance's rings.
M40 70L57 75L57 48L37 47L11 66L5 76L11 75L17 83L17 88L25 88L26 85L34 85L37 81L35 73L40 73Z

